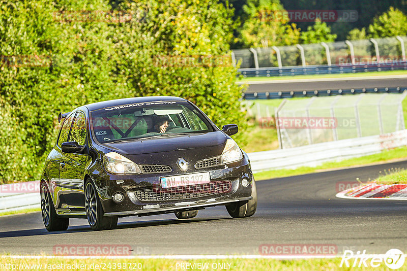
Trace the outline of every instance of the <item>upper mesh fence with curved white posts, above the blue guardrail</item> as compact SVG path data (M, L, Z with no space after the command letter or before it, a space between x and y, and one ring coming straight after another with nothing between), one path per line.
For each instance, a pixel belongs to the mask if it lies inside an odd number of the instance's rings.
M355 65L406 61L407 37L232 50L240 68Z

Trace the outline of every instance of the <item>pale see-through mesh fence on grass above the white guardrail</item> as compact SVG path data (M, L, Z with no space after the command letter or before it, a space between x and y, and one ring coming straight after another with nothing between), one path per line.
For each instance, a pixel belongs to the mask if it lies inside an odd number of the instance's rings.
M284 99L276 109L273 121L280 148L403 130L401 101L406 95L407 92ZM268 112L271 116L270 109ZM266 111L257 114L270 118Z

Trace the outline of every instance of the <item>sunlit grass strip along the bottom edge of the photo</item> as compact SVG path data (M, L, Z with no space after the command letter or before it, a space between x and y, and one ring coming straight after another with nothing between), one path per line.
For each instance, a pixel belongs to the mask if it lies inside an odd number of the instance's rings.
M341 257L331 259L65 259L65 258L38 258L13 259L5 257L1 264L8 264L8 269L20 270L350 270L350 267L339 267ZM368 267L358 267L358 270L372 270L370 259L366 261ZM350 265L353 261L348 261ZM182 265L184 264L184 265ZM186 265L188 264L188 265ZM195 265L194 265L195 264ZM199 264L199 265L198 265ZM126 266L126 267L124 267ZM130 268L129 268L130 266ZM362 265L363 266L363 265ZM0 266L1 267L1 266ZM83 268L82 268L83 267ZM115 267L115 268L114 268ZM141 268L140 268L141 267ZM203 267L203 268L202 268ZM7 269L7 268L5 268ZM382 261L374 270L391 270ZM404 264L398 270L407 270Z

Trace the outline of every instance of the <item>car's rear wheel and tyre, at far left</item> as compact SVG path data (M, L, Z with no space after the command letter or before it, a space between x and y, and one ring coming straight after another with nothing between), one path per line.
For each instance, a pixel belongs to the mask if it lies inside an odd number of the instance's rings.
M48 231L67 230L69 218L61 218L55 212L54 203L45 182L41 183L41 214L44 226Z

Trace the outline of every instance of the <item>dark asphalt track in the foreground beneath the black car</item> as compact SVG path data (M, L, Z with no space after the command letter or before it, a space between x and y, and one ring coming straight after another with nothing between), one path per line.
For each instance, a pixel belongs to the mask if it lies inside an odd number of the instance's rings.
M92 231L71 219L64 232L45 230L40 213L0 217L0 251L52 254L54 246L122 244L143 254L258 254L261 244L334 244L344 249L407 251L407 201L336 198L340 182L375 178L407 161L257 182L254 216L232 219L225 208L177 220L173 214L119 219L118 229Z

